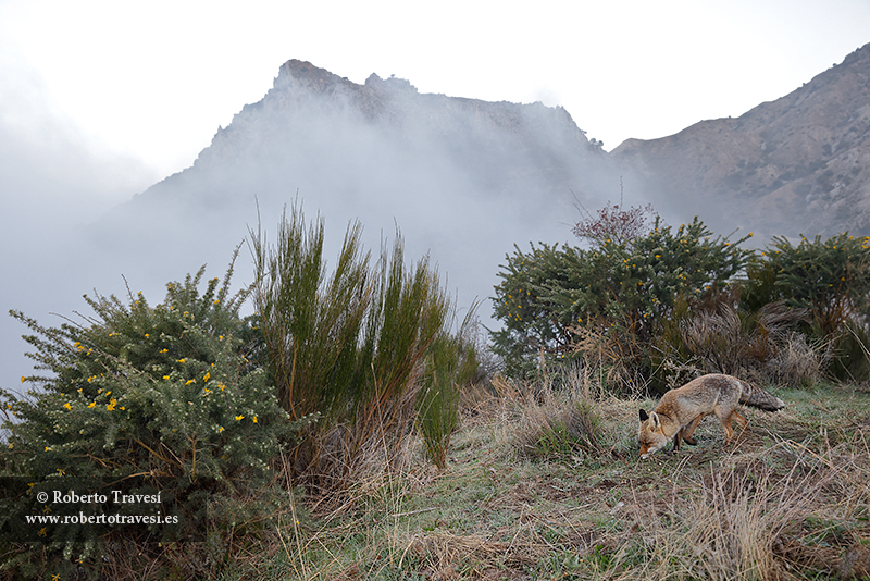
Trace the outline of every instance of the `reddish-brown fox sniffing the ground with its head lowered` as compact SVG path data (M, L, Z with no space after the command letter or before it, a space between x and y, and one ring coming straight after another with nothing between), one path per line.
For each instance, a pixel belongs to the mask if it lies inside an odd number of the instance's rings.
M641 458L649 458L673 440L674 452L680 442L694 446L692 434L705 416L716 415L725 430L725 444L734 436L732 420L746 430L749 421L737 413L737 407L746 404L765 411L778 411L785 403L753 384L732 375L711 373L701 375L682 387L666 393L659 405L649 413L641 409L641 429L637 442Z

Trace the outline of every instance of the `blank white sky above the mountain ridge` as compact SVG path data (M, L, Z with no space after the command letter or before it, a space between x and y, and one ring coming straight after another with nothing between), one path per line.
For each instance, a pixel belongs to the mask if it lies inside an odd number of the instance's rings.
M0 0L0 122L63 124L141 162L144 189L296 58L356 83L561 104L610 150L739 115L868 41L870 0Z

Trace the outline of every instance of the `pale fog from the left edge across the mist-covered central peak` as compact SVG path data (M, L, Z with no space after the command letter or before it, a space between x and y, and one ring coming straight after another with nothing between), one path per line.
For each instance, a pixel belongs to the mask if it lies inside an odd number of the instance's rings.
M513 245L573 244L576 205L620 197L621 171L562 109L421 95L400 79L355 85L302 64L285 65L191 168L150 188L146 168L100 152L63 120L23 132L4 115L4 313L55 326L64 321L51 313L88 314L83 294L123 296L127 285L156 304L166 282L202 264L222 276L250 228L274 239L283 209L301 203L309 221L325 221L331 263L350 221L374 254L398 228L407 261L430 256L460 317L477 299L492 326L488 298ZM632 186L624 203L642 198ZM247 247L236 272L251 281ZM26 331L3 316L4 388L33 372Z

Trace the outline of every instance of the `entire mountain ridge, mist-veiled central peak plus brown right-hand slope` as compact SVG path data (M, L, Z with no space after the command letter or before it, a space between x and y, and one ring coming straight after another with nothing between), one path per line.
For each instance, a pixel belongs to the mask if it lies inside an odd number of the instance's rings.
M409 81L353 83L311 63L281 66L272 89L221 127L192 165L94 228L169 280L223 262L258 223L298 199L326 221L327 256L348 222L377 248L399 228L430 255L459 304L485 300L513 245L573 242L577 202L652 202L669 223L714 232L870 234L870 45L804 87L737 119L629 139L610 154L563 108L421 94ZM148 242L149 252L139 245ZM183 249L183 251L178 251ZM149 264L147 268L151 268Z

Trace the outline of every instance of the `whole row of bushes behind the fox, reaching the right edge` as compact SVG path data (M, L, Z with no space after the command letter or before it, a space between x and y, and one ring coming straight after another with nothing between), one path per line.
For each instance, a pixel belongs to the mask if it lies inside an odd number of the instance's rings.
M493 348L508 375L569 360L630 391L700 372L793 383L833 366L866 379L855 356L867 336L868 238L774 238L755 252L741 248L750 235L730 242L697 218L645 227L650 211L607 207L574 227L586 248L542 244L506 257ZM798 355L807 369L794 368Z

